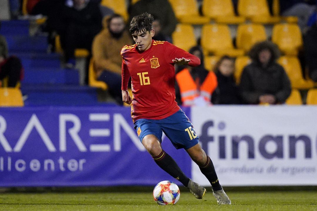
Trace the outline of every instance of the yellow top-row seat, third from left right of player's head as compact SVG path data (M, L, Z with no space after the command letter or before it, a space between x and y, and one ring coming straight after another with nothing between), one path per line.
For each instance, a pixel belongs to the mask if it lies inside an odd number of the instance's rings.
M272 24L281 20L279 16L270 15L267 0L239 0L238 12L254 23Z

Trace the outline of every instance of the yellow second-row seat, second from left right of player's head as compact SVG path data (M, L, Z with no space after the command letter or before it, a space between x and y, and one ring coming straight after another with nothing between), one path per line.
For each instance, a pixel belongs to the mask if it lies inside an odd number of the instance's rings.
M242 49L235 49L229 27L223 24L207 24L202 28L201 44L208 53L217 56L228 55L231 57L242 56Z

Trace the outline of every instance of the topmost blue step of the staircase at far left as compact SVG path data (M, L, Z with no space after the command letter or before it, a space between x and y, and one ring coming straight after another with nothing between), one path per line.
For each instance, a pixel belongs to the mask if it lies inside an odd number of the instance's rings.
M0 34L6 35L28 35L29 34L29 21L1 21Z

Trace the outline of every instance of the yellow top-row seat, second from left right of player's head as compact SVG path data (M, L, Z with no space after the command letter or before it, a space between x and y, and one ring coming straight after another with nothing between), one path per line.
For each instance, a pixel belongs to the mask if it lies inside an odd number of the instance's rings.
M235 16L232 0L204 0L202 10L204 16L217 23L238 24L245 21L245 17Z

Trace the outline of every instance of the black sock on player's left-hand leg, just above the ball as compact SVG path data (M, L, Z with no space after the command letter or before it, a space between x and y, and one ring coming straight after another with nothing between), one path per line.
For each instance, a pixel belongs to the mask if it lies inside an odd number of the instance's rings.
M188 186L189 178L186 177L184 172L178 167L177 163L174 161L174 159L164 152L162 152L158 156L153 157L154 161L158 166L166 171L168 174L170 174L172 177L177 179L179 182L183 183L185 187Z

